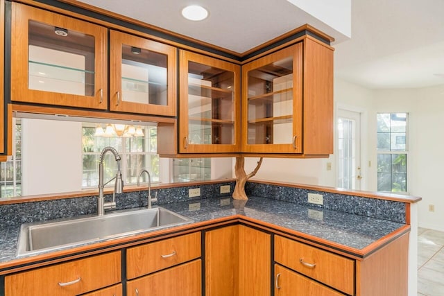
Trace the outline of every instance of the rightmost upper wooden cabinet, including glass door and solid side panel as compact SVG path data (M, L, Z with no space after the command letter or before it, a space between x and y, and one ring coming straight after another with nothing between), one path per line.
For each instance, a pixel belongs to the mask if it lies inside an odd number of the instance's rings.
M333 51L305 37L242 66L242 152L333 153Z

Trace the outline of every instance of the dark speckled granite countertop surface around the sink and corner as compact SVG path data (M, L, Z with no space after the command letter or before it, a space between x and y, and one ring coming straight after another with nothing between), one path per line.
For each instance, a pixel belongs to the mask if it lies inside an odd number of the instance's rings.
M246 202L230 197L208 198L161 204L161 207L191 218L195 223L241 214L356 250L404 226L388 220L256 197ZM0 227L0 263L17 259L18 236L19 226Z

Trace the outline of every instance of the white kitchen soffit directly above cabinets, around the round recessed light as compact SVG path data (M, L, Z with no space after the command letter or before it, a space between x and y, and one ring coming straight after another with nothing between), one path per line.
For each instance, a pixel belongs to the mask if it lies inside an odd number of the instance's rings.
M82 0L237 53L244 53L304 24L334 37L335 44L348 40L351 0L318 1L318 5L313 5L310 0ZM332 2L337 5L323 4ZM343 3L348 4L343 6ZM203 21L185 19L181 11L191 4L203 6L210 15ZM303 7L298 8L299 5ZM339 17L332 17L332 9ZM343 17L347 14L348 17Z

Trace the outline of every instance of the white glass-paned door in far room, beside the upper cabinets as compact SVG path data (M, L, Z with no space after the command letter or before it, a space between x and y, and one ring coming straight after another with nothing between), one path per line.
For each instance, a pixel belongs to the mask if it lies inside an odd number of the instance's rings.
M337 183L345 189L361 189L360 114L338 110L337 121Z

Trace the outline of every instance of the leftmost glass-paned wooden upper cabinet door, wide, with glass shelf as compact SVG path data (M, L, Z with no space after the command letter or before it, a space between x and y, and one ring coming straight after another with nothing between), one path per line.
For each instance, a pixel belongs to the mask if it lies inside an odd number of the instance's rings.
M107 30L12 3L12 101L107 109Z

